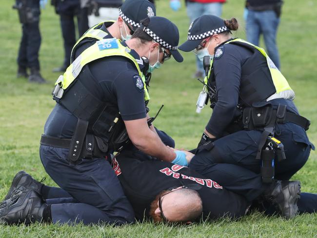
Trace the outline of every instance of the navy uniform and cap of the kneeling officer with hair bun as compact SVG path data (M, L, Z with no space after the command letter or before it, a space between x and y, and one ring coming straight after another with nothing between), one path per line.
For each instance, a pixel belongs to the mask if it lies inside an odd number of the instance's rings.
M213 31L210 29L210 22L215 24ZM193 22L188 40L179 49L192 50L203 38L225 31L228 28L220 18L202 16ZM293 102L294 92L285 79L283 83L289 90L285 94L278 94L271 69L277 70L273 62L257 48L246 41L230 39L215 48L210 75L207 77L207 83L215 89L216 95L211 99L213 113L206 130L216 139L208 139L213 142L212 146L199 150L191 160L190 167L220 184L231 184L238 194L239 188L242 191L250 179L258 177L260 181L261 178L261 160L256 157L260 150L263 126L249 126L253 122L250 120L252 115L245 116L245 109L268 107L274 111L284 106L286 114L298 115ZM283 78L281 74L280 77ZM258 113L255 117L260 115ZM273 124L275 137L283 143L286 155L284 160L275 159L275 179L288 180L305 164L314 145L309 141L305 132L307 128L303 128L303 125L287 120L280 123L273 121ZM221 164L220 171L215 166L218 164ZM219 178L221 173L230 174L230 180ZM264 191L265 186L262 187ZM250 193L247 199L251 201L259 194Z

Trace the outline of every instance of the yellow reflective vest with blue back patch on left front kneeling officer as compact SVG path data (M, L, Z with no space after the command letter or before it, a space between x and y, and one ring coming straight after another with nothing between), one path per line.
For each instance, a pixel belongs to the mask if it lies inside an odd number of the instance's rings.
M143 81L144 88L144 100L149 100L150 96L146 89L145 77L139 68L137 60L129 54L130 48L123 46L121 40L115 38L112 39L102 39L97 41L95 44L84 50L74 62L68 66L63 77L59 77L55 85L59 84L60 87L65 90L67 87L77 78L82 67L96 59L109 57L109 56L123 56L130 59L136 66L139 76Z

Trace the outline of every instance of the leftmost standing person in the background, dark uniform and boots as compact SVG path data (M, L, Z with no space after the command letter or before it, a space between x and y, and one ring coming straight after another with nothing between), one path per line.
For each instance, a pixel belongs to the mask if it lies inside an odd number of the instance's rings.
M16 0L13 6L19 12L22 24L22 38L18 55L17 77L29 78L29 82L45 83L40 75L39 50L40 36L40 0ZM30 75L27 73L30 69Z

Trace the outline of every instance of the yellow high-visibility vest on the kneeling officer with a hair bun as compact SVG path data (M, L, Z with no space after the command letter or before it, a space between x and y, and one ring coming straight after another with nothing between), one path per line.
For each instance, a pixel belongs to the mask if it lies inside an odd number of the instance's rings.
M226 42L225 44L228 44L230 42L234 42L234 41L239 41L245 44L249 44L253 47L255 47L265 58L266 58L266 62L267 65L269 67L270 73L271 73L271 77L276 89L276 93L280 93L286 90L292 90L292 88L290 87L290 85L288 84L287 80L285 79L285 77L282 75L282 73L277 69L277 67L275 66L275 64L273 63L273 61L269 58L269 56L266 54L265 50L249 43L248 41L242 40L242 39L234 39L234 40L230 40L228 42ZM211 68L213 66L213 62L214 59L210 60L210 69L209 69L209 73L208 76L205 77L204 82L207 84L208 79L210 77L210 72L211 72ZM293 91L293 90L292 90Z

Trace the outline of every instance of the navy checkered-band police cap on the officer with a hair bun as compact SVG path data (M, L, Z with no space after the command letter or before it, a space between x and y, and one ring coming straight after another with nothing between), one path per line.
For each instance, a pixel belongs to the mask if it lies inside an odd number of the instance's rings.
M223 19L215 15L202 15L190 24L187 41L182 43L178 49L186 52L192 51L203 39L224 31L230 30L226 27Z

